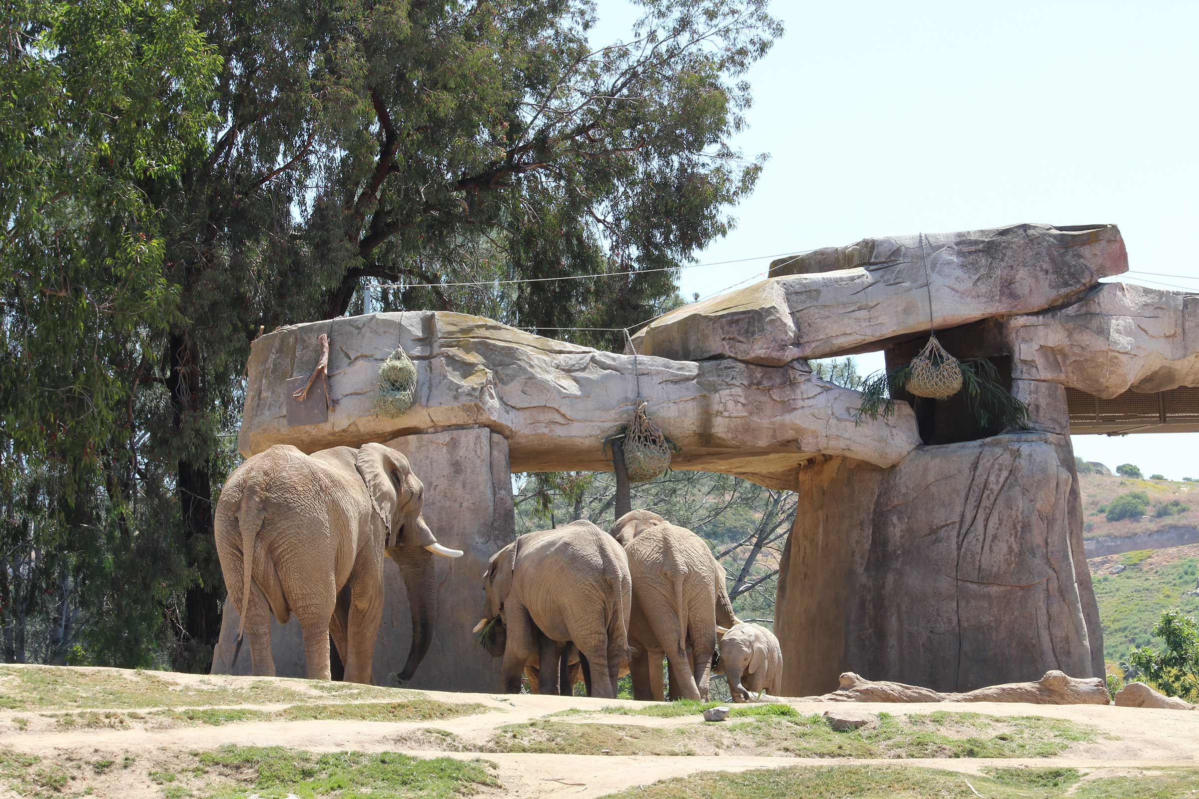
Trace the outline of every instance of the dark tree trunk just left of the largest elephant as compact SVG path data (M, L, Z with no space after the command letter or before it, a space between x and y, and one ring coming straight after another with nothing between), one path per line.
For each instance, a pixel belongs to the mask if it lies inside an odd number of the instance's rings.
M195 423L204 408L199 363L200 356L191 337L173 333L167 388L170 391L173 429L183 441L191 437L187 428ZM221 581L215 579L218 571L212 568L212 476L206 459L195 462L188 454L179 458L175 474L183 520L183 545L188 561L205 577L200 585L187 589L183 601L183 629L191 653L187 662L180 665L187 671L206 672L211 665L212 647L221 634L219 599L223 593Z

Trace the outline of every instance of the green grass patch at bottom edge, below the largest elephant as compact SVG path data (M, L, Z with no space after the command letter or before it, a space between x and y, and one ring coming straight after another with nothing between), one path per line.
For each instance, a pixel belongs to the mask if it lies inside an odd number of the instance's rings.
M213 799L257 793L263 799L291 793L301 799L318 795L402 799L448 799L470 795L480 787L499 787L486 761L448 757L421 759L392 752L336 752L315 755L278 746L224 746L200 755L211 775L234 785L205 792Z

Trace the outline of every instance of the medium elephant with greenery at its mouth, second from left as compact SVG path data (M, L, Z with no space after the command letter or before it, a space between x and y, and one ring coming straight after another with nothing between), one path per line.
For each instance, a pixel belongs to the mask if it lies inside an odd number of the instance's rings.
M586 659L594 696L614 698L627 658L632 581L628 559L610 535L589 521L522 535L492 556L483 574L487 616L504 625L504 688L520 691L530 659L538 690L558 694L559 661L573 642Z

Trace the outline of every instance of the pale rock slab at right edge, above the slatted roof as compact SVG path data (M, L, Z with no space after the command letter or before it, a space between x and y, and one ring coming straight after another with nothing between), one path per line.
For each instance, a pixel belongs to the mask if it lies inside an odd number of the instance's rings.
M1080 302L1004 325L1012 376L1110 399L1199 386L1199 297L1107 283Z

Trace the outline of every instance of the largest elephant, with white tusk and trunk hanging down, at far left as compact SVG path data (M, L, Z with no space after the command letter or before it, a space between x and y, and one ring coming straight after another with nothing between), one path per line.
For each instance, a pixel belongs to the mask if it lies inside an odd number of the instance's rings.
M433 555L462 556L424 523L423 494L408 459L376 443L312 455L278 444L237 467L221 491L215 533L228 601L241 613L237 644L249 635L255 674L275 674L271 615L285 624L294 612L309 679L330 679L332 636L345 679L369 683L386 556L412 613L399 674L411 678L436 624Z

